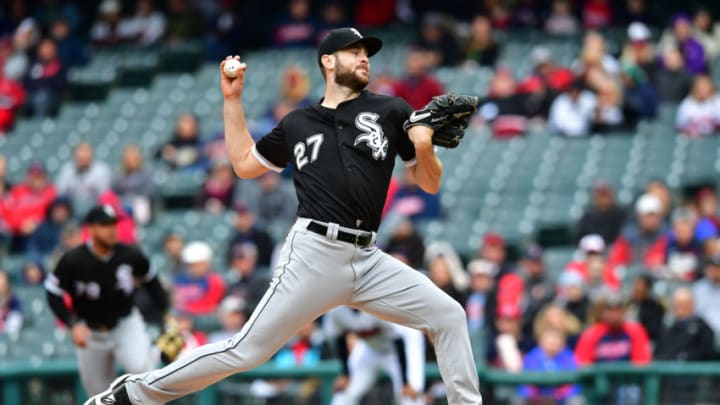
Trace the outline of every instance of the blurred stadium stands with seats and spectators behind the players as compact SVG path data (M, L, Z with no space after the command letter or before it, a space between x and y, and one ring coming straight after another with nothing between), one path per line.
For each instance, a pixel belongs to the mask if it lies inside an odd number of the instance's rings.
M239 330L297 201L287 170L235 177L218 62L248 63L259 138L320 99L315 46L349 25L384 41L371 91L416 109L482 99L461 147L438 151L438 195L397 165L379 244L466 308L486 403L720 403L718 13L709 0L2 2L0 404L84 399L42 283L98 202L160 271L188 348ZM213 253L199 265L183 258L193 241ZM188 284L214 288L198 305ZM158 330L163 314L136 299ZM326 403L339 367L320 322L262 373L177 403ZM288 362L298 347L314 354ZM446 403L431 347L425 362L427 403ZM391 401L383 377L364 404Z

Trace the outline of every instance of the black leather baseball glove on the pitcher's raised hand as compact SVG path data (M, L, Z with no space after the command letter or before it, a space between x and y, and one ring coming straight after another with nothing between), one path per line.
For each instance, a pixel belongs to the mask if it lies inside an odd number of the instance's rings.
M465 128L478 104L480 99L476 96L452 93L436 96L422 110L414 111L403 129L407 131L415 125L425 125L435 131L434 145L455 148L465 136Z

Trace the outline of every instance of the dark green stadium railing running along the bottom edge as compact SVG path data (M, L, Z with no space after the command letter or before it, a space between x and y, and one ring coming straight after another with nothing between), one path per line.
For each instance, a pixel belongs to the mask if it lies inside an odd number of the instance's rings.
M332 384L340 372L337 361L322 361L317 366L300 368L277 368L269 364L253 370L236 374L233 380L267 379L307 379L322 380L320 399L322 404L329 404L332 396ZM607 363L581 368L577 371L564 372L522 372L509 373L497 369L480 368L478 370L483 392L498 386L519 386L534 384L556 386L577 383L583 386L587 404L601 404L607 401L613 383L636 384L642 391L640 403L643 405L661 404L661 381L663 378L682 377L698 380L700 377L720 377L720 362L670 362L657 361L645 366L629 363ZM428 380L440 379L435 363L426 367ZM29 379L65 379L72 381L73 386L64 386L74 391L78 404L86 398L78 377L77 364L74 359L44 361L42 363L22 362L0 364L0 386L4 405L22 404L23 384ZM219 398L217 385L212 385L194 396L194 405L215 405Z

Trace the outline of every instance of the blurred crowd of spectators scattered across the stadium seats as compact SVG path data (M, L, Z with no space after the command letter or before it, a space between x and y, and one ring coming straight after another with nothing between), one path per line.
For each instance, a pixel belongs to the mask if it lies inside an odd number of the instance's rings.
M405 74L376 72L371 89L421 108L445 92L434 75L438 67L493 69L474 125L488 125L496 137L519 136L533 125L564 136L626 129L653 119L661 104L679 105L678 136L709 136L720 127L720 96L709 75L720 54L720 23L702 8L663 19L644 0L620 5L521 1L513 7L503 1L467 2L474 4L469 9L461 1L278 0L270 3L283 11L270 15L267 9L273 7L232 0L104 0L97 9L81 1L31 3L9 0L0 14L0 136L13 136L14 122L25 116L53 115L62 104L68 72L87 63L93 49L199 40L207 59L216 61L237 49L314 46L333 27L391 22L414 24L417 38L408 44ZM258 21L273 23L259 27ZM531 74L514 77L499 64L500 38L513 29L581 35L581 51L572 65L561 66L539 44L528 58ZM606 45L602 32L608 29L626 33L619 52ZM276 101L251 122L256 136L312 102L310 78L301 67L287 67L279 82ZM286 173L238 181L223 134L201 133L200 118L180 115L159 149L129 146L116 168L95 159L92 145L75 145L72 161L56 178L38 157L25 178L11 184L0 150L0 239L9 254L27 258L22 269L0 271L0 333L22 328L23 303L11 284L41 285L62 252L87 239L78 219L90 205L112 205L121 217L120 240L139 242L138 228L162 215L156 209L158 170L206 173L184 209L234 215L234 235L224 251L213 251L191 234L165 236L161 274L186 348L242 327L267 286L280 242L268 229L291 223L297 201ZM384 248L425 272L465 307L475 356L488 367L552 371L606 361L715 359L720 337L717 190L711 186L678 195L654 181L632 207L620 206L615 190L602 181L591 194L575 227L574 259L562 269L547 269L537 243L523 243L513 257L504 236L494 232L484 236L472 257L461 257L448 243L426 241L418 224L442 220L441 200L421 191L406 173L393 179L388 194L384 215L402 220L393 222ZM214 267L218 256L225 258L223 268ZM660 291L657 284L673 288ZM162 314L142 298L139 305L149 321L162 322ZM216 316L210 322L215 330L194 325ZM317 363L327 356L320 335L308 325L273 361L279 366ZM633 397L633 387L624 388L629 393L618 398ZM573 403L580 392L574 385L525 386L517 394Z

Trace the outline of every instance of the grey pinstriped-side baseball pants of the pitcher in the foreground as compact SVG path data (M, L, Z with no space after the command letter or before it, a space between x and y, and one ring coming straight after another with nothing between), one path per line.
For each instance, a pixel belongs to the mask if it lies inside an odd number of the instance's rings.
M164 404L268 360L296 331L338 305L420 329L435 346L451 405L482 403L465 311L427 277L376 247L307 230L300 218L283 245L268 291L243 329L165 368L129 379L131 402ZM328 224L325 224L328 225Z

